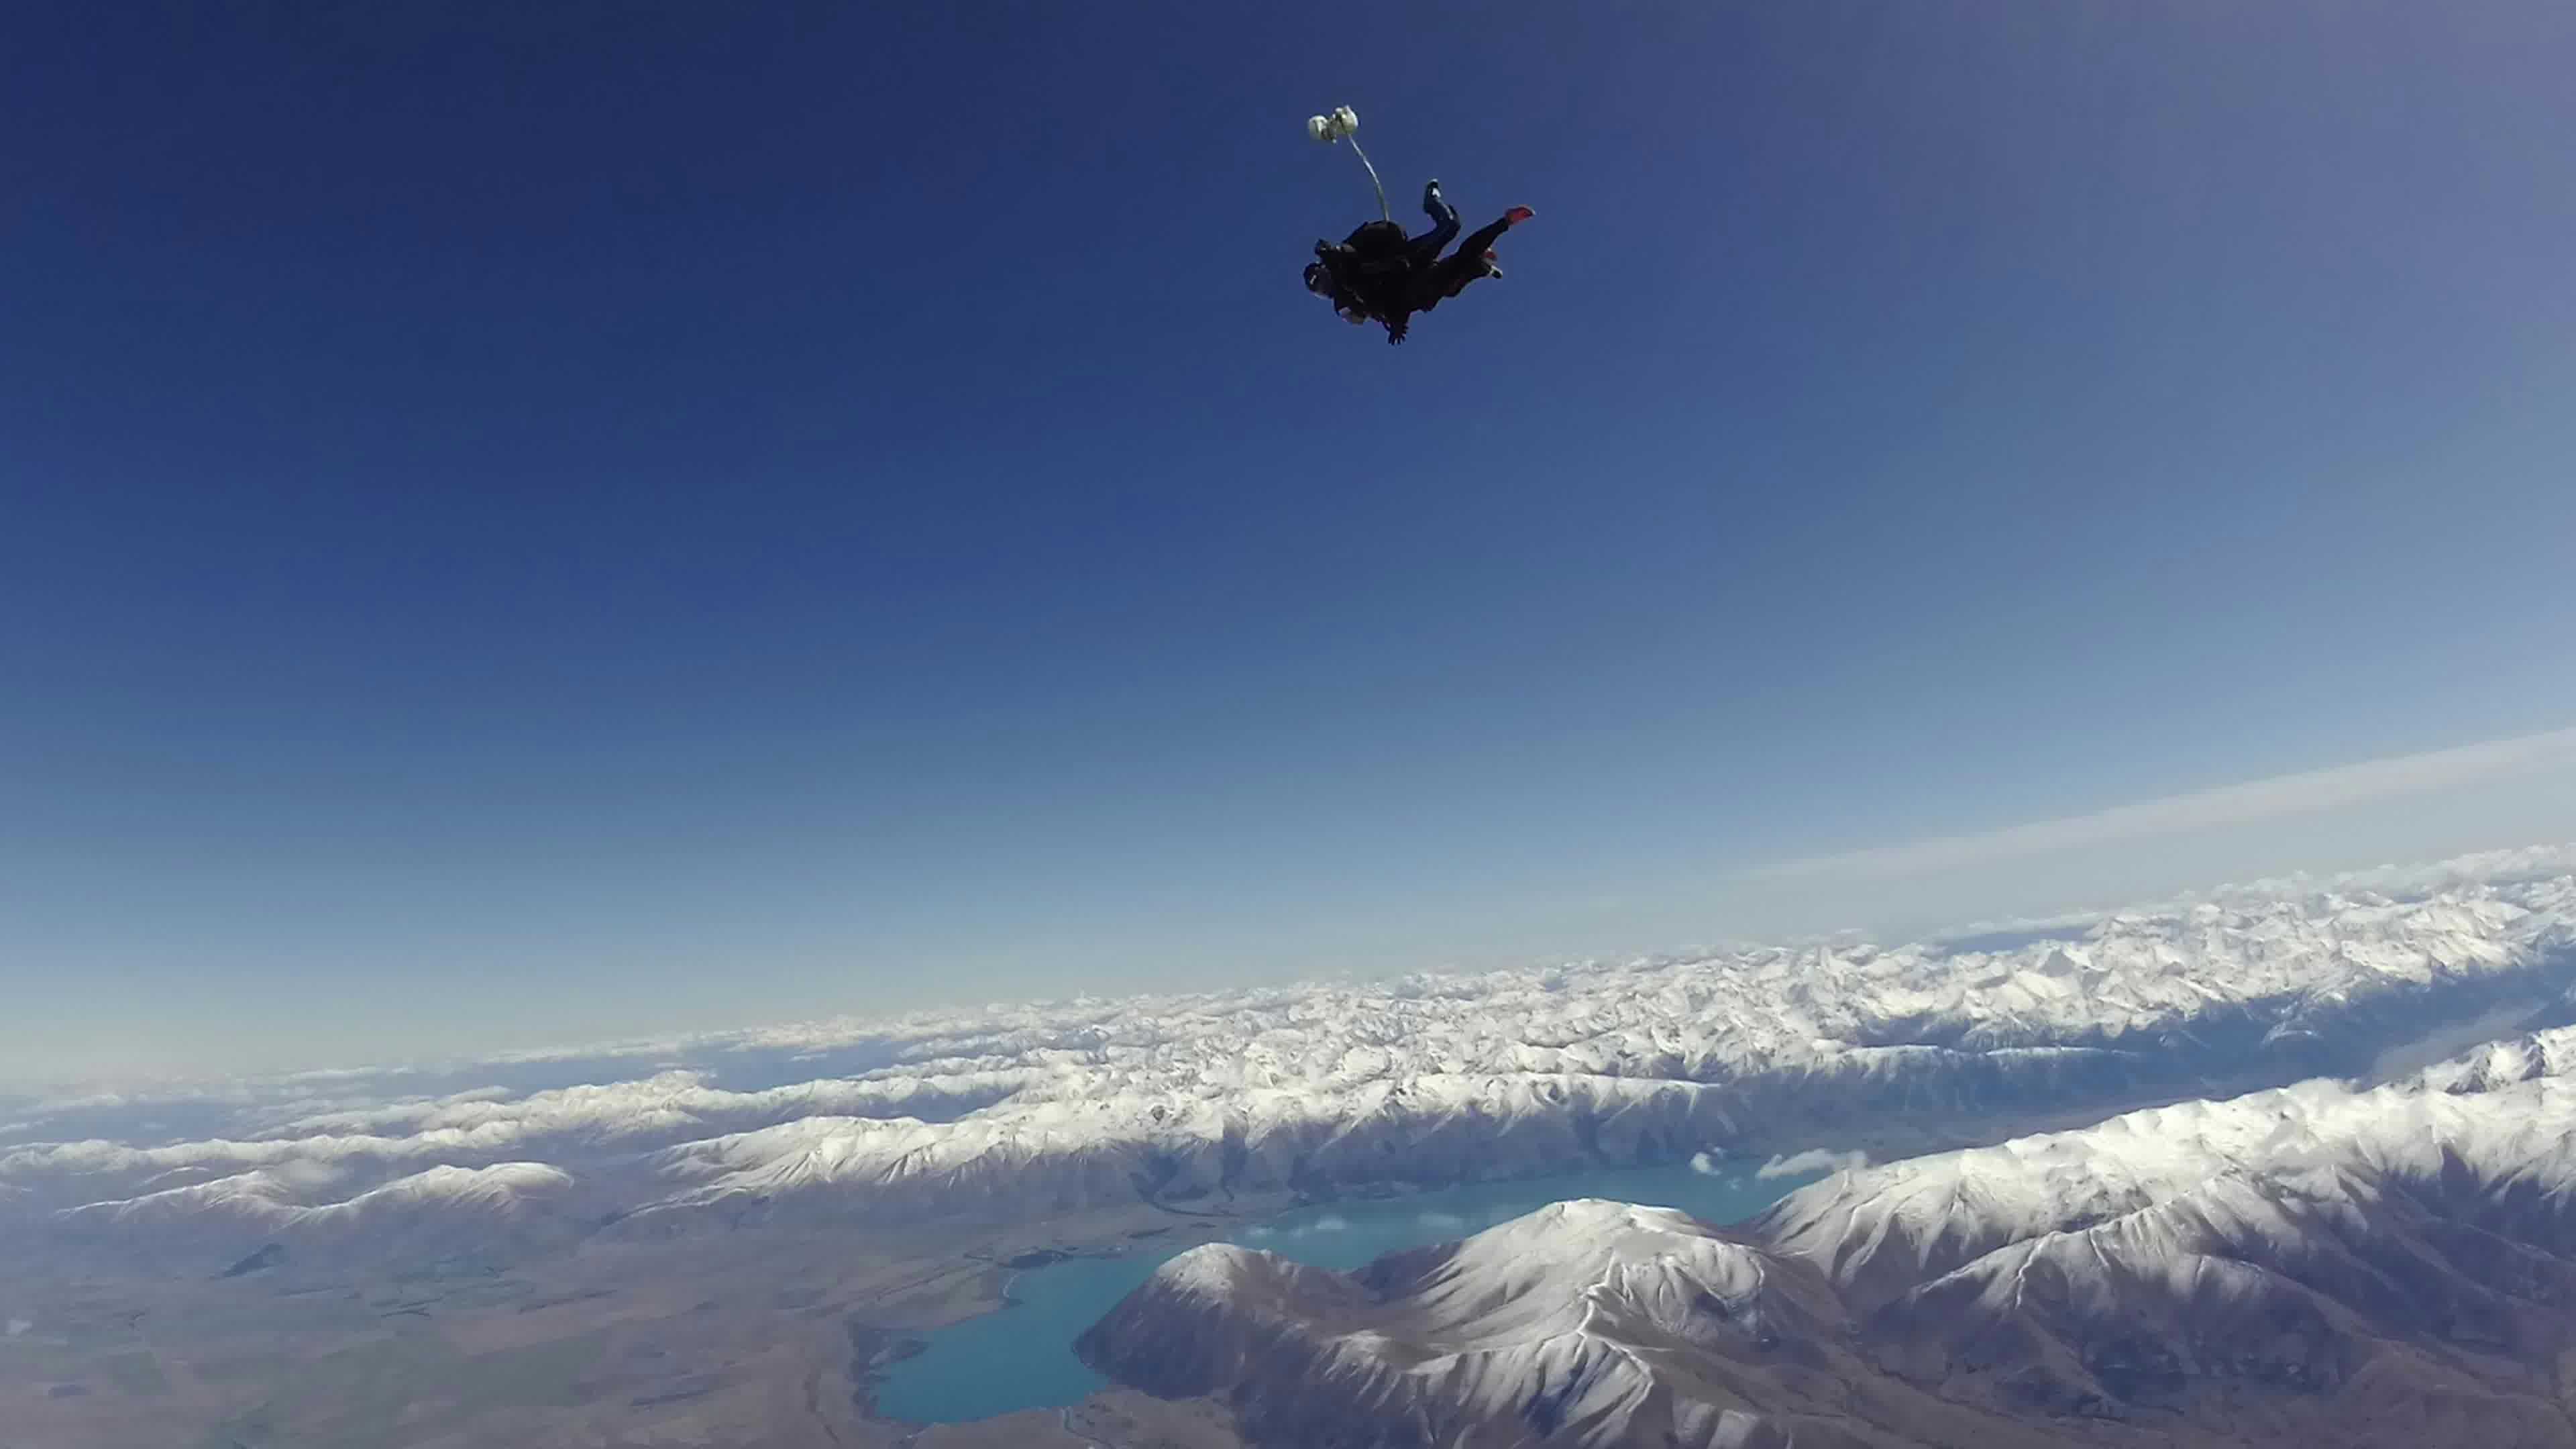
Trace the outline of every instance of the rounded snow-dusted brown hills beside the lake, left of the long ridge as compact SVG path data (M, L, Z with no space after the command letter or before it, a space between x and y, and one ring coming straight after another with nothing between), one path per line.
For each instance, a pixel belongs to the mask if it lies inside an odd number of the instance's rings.
M1788 1403L1790 1379L1860 1374L1842 1338L1806 1263L1672 1209L1561 1201L1352 1276L1195 1248L1079 1351L1157 1395L1224 1395L1255 1444L1878 1444Z

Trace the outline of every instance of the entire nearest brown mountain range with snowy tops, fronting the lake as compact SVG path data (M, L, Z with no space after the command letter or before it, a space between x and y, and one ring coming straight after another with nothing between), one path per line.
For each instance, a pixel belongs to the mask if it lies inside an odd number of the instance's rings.
M1084 1336L1255 1444L2576 1444L2576 1029L1360 1274L1242 1248Z

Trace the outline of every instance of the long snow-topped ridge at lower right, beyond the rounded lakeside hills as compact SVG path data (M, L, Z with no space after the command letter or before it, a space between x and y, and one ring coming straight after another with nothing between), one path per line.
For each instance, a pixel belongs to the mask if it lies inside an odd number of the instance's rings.
M1839 1173L1749 1225L1886 1361L2053 1413L2576 1439L2576 1029ZM2452 1423L2442 1423L2452 1415ZM2473 1418L2470 1426L2465 1418Z

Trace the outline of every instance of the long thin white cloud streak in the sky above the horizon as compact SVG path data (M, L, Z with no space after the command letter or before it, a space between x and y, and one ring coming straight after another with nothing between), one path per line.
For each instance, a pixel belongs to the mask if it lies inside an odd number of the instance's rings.
M1875 846L1868 851L1842 851L1780 861L1744 871L1749 882L1783 882L1814 877L1909 877L2043 856L2050 851L2079 851L2151 835L2184 835L2218 825L2246 825L2285 815L2311 815L2370 799L2458 789L2465 784L2517 779L2543 771L2576 768L2576 727L2519 735L2512 740L2486 740L2452 750L2427 750L2419 755L2393 755L2357 766L2303 771L2136 804L2115 804L2092 815L2066 815L2058 820L2032 820L2004 830L1976 835L1942 835L1906 846Z

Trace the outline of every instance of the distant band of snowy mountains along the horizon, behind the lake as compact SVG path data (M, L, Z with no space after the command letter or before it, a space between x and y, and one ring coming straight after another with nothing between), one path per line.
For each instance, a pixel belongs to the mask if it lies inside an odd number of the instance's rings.
M2576 851L1950 944L1074 1000L13 1104L0 1227L137 1240L544 1163L613 1232L1924 1150L2566 1013ZM265 1176L258 1176L265 1173ZM232 1183L222 1191L162 1196ZM116 1204L165 1207L118 1214ZM430 1212L430 1209L425 1209Z

